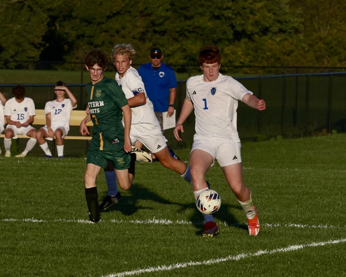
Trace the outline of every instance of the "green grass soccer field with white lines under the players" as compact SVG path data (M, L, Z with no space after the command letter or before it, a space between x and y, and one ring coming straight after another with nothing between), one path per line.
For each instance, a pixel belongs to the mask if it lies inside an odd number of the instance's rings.
M0 275L346 276L345 143L335 134L243 144L256 237L217 163L207 179L222 198L220 233L202 238L190 185L159 163L137 163L133 186L87 224L83 158L2 154ZM103 173L97 184L101 201Z

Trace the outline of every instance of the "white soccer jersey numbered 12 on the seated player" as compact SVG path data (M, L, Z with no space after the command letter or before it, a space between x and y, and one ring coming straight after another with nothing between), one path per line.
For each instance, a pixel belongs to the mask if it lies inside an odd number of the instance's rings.
M71 111L76 107L77 105L72 107L70 99L62 102L48 101L44 107L44 114L51 113L51 127L65 127L66 131L69 131Z

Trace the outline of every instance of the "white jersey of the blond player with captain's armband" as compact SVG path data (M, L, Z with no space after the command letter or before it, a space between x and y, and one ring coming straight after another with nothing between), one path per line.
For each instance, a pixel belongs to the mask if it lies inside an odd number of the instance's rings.
M122 91L125 93L126 99L134 97L137 93L144 92L146 104L138 107L131 107L132 120L131 124L150 123L155 126L160 126L154 113L153 103L149 100L144 89L144 83L136 69L132 66L126 71L122 78L119 78L119 73L115 75L115 80L118 82Z

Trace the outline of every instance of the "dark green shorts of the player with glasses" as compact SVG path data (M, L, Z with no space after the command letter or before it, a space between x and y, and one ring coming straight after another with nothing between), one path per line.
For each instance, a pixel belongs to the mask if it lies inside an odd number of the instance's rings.
M86 163L92 163L96 166L106 168L108 161L112 162L115 169L128 169L130 168L131 155L130 153L126 153L124 149L122 149L122 152L89 149L86 154Z

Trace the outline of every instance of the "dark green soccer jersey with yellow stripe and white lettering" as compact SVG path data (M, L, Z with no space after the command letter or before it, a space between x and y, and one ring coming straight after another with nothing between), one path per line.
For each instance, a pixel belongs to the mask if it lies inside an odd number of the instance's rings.
M124 126L121 108L128 104L118 83L103 77L86 85L86 95L94 131L91 150L118 151L124 148Z

